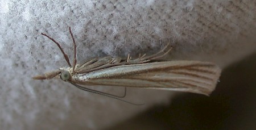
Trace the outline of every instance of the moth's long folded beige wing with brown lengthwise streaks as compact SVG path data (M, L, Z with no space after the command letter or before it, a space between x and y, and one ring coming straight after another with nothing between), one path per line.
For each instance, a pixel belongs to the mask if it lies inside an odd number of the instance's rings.
M79 84L145 87L209 95L221 69L201 61L166 61L114 66L81 76ZM82 79L81 79L82 80Z

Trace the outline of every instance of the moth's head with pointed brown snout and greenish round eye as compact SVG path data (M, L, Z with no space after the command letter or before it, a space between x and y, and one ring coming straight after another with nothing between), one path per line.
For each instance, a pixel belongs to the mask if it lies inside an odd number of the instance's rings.
M53 72L48 72L43 75L32 77L33 79L52 79L52 78L60 78L63 81L67 81L68 79L71 79L71 73L69 73L69 70L67 69L60 69Z

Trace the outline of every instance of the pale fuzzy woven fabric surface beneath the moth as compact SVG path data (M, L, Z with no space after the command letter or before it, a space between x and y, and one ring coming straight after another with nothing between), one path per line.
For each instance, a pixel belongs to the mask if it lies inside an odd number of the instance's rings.
M48 33L78 61L108 54L174 49L167 60L212 61L221 68L256 51L256 2L243 1L1 1L1 129L101 129L167 103L171 91L129 89L138 107L32 76L67 65ZM122 88L98 87L114 94Z

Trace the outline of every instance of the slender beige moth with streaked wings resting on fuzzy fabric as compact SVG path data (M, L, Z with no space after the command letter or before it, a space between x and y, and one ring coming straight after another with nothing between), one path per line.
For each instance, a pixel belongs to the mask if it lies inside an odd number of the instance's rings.
M69 66L35 76L33 79L57 78L72 83L79 89L119 99L125 95L106 94L82 85L141 87L209 95L215 89L220 77L221 69L212 62L186 60L157 62L157 59L166 56L171 51L171 47L168 48L169 45L150 56L146 56L146 54L141 56L140 54L138 58L134 59L129 54L127 58L107 56L92 58L82 64L76 64L76 42L71 27L69 27L69 33L74 47L72 65L60 44L52 37L42 33L59 47Z

